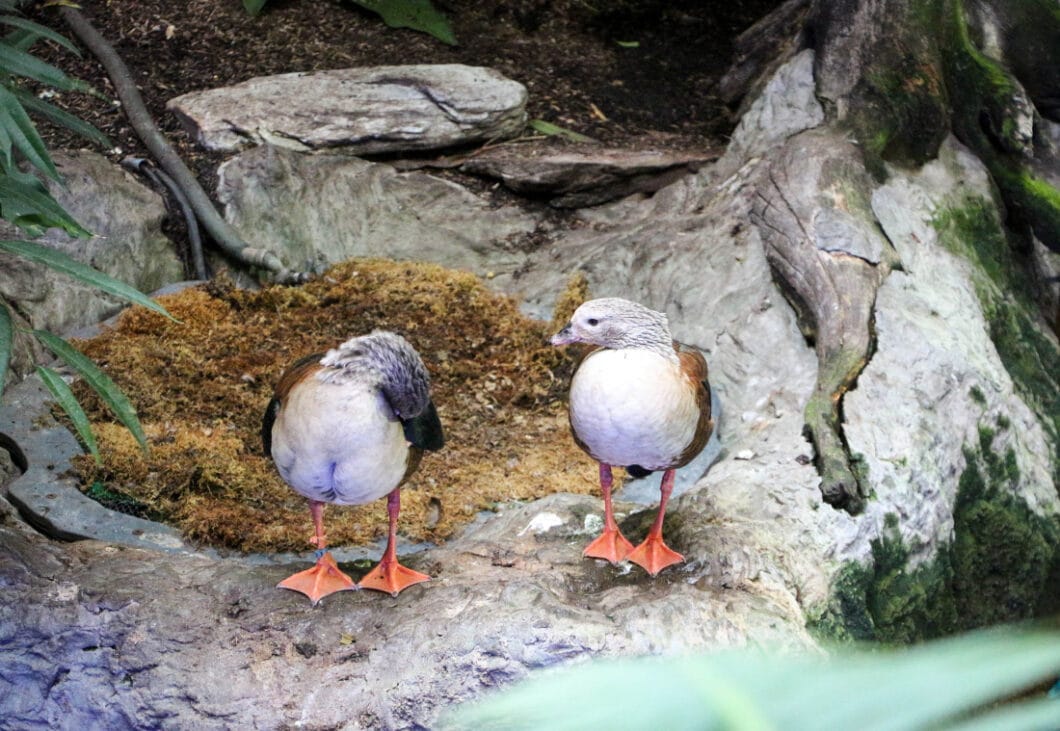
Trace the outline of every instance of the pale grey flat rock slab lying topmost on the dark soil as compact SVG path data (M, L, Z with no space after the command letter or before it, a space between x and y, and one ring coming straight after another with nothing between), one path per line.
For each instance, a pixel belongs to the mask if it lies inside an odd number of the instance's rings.
M526 102L518 82L449 64L262 76L183 94L166 108L209 150L269 142L374 155L513 137L526 123Z

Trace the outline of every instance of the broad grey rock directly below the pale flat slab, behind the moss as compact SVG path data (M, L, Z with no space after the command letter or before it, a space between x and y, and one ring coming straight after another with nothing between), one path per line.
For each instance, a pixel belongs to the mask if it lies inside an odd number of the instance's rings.
M311 271L368 255L515 270L525 260L516 244L538 225L447 180L342 155L263 145L223 164L218 178L225 216L247 242Z

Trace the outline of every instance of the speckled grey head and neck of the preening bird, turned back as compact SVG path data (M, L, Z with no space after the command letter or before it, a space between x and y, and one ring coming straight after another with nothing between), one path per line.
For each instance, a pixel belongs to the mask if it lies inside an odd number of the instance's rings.
M396 333L373 331L324 354L318 378L330 384L375 384L401 420L414 418L430 402L430 376L416 349Z

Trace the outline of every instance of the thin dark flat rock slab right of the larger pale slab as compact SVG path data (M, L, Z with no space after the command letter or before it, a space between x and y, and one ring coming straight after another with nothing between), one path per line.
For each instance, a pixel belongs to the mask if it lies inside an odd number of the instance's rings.
M717 158L718 154L709 150L549 153L518 145L476 155L460 170L497 178L516 193L549 197L549 203L556 208L584 208L635 193L654 193Z

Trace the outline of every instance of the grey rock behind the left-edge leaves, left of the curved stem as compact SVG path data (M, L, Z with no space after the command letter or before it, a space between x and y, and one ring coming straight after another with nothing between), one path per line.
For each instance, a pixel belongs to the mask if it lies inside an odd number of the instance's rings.
M145 292L183 279L174 246L162 234L165 207L155 192L95 153L56 153L53 157L65 184L49 182L51 194L95 235L74 238L52 229L37 244ZM5 221L0 221L0 234L23 237ZM4 253L0 253L0 298L14 306L25 325L59 334L94 324L123 306L94 287ZM22 368L32 361L19 354L16 357Z

